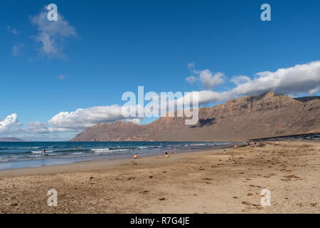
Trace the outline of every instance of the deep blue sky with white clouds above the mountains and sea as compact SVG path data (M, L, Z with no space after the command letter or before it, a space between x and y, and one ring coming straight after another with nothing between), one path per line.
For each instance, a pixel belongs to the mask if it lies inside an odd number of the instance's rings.
M56 26L43 18L50 3L58 6ZM271 21L260 19L264 3ZM137 86L211 91L203 98L210 105L265 90L319 95L319 7L284 0L3 2L0 137L68 140L85 126L121 120L90 108L123 105L122 93ZM265 87L255 80L262 76L282 84ZM85 113L72 113L79 108ZM88 113L97 118L83 118Z

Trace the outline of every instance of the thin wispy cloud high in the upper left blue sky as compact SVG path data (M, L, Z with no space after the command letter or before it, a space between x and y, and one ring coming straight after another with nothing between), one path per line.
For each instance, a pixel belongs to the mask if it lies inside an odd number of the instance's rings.
M65 58L63 43L67 38L78 36L77 32L63 15L58 14L58 21L48 21L47 14L47 11L42 11L30 17L31 24L38 29L38 34L34 36L34 40L41 43L38 51L42 56Z

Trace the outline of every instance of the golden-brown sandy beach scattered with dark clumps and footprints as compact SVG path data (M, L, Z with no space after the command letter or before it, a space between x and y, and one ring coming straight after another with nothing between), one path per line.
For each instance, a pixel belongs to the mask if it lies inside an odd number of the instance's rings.
M319 213L320 142L0 171L0 213ZM47 192L58 192L48 207ZM260 204L261 190L271 206Z

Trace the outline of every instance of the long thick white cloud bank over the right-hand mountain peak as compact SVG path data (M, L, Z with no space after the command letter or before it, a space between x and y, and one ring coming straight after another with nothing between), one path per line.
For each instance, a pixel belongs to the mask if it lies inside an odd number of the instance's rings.
M240 95L257 95L267 91L297 96L302 93L314 95L320 92L320 61L298 64L290 68L280 68L277 71L262 71L250 79L247 76L237 76L230 80L235 88L223 92L213 90L194 91L199 98L199 104L225 102Z

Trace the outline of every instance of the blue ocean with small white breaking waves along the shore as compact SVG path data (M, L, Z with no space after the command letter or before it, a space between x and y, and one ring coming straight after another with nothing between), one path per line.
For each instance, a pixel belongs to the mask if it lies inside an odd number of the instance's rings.
M218 148L233 142L0 142L0 170ZM42 149L46 149L46 156Z

